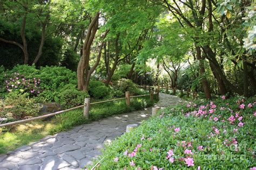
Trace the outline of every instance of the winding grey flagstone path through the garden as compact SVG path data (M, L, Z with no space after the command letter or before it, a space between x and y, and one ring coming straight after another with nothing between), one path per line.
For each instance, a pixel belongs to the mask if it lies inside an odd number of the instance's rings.
M177 96L159 94L158 107L181 102ZM139 124L151 115L151 108L114 115L70 131L47 136L41 141L0 155L2 169L81 169L100 154L104 143L123 134L129 124Z

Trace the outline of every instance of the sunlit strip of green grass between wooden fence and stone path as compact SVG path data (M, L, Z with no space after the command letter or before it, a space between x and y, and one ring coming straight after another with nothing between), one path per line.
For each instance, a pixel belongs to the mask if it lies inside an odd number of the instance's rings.
M11 128L0 128L0 154L37 141L48 134L69 130L73 128L73 126L90 123L111 115L140 110L145 107L150 107L152 104L148 96L132 98L130 107L127 107L124 100L106 102L91 105L89 119L83 117L83 109L80 108L61 115L56 115L45 121L32 121L11 126Z

